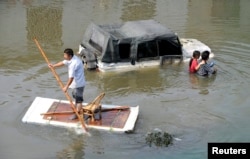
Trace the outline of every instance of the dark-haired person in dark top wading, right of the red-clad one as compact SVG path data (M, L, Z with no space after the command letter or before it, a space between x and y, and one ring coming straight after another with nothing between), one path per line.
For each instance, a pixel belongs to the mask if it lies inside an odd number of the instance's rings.
M207 63L207 60L209 59L208 51L205 51L201 54L201 59L202 61L200 62L200 68L198 69L197 74L201 76L215 74L217 70L211 66L211 64Z

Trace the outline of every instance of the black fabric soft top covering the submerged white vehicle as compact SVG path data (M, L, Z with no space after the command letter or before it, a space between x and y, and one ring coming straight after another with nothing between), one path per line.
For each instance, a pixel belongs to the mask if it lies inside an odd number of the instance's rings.
M91 23L81 44L86 48L83 54L89 54L85 55L89 58L87 61L96 57L111 63L182 56L178 36L154 20L107 25Z

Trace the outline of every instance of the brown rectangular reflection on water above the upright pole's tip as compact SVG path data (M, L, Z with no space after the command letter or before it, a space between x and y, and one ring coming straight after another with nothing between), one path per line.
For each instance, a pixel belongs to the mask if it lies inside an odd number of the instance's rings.
M62 8L49 5L27 8L27 39L34 43L36 37L54 48L62 46L62 12Z

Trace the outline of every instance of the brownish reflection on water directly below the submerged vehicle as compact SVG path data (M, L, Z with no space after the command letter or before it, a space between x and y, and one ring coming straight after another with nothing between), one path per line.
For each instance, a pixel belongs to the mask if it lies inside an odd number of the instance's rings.
M152 78L153 77L153 78ZM131 93L152 93L164 88L164 80L159 74L159 68L145 68L122 73L99 73L88 79L100 88L100 91L112 95L129 95Z

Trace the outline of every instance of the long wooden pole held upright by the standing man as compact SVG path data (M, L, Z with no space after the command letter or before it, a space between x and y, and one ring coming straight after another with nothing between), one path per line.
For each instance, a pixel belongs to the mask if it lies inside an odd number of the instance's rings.
M42 56L44 57L45 61L46 61L47 64L49 65L50 62L49 62L49 60L48 60L48 58L47 58L45 52L43 51L42 47L40 46L39 42L37 41L36 38L34 38L34 41L35 41L35 43L36 43L36 46L37 46L38 49L40 50ZM55 71L55 69L54 69L53 67L50 67L50 70L51 70L51 72L53 73L54 77L56 78L58 84L60 85L60 87L61 87L61 89L62 89L62 91L63 91L64 85L63 85L63 83L62 83L60 77L58 76L58 74L56 73L56 71ZM63 92L64 92L64 91L63 91ZM66 96L66 98L67 98L68 101L70 102L71 108L73 109L73 111L74 111L75 114L77 115L78 119L80 120L80 122L81 122L81 124L82 124L82 128L87 132L87 128L86 128L85 122L84 122L83 118L79 115L78 111L76 110L76 108L75 108L75 106L74 106L74 104L73 104L73 102L72 102L72 99L71 99L71 97L69 96L68 92L64 92L64 95Z

